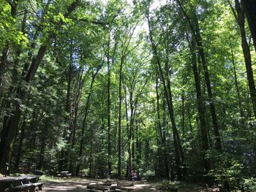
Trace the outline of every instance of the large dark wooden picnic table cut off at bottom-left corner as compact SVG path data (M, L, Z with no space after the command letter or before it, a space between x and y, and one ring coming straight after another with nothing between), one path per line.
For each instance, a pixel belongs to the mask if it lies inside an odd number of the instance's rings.
M34 191L37 187L42 191L43 183L38 180L39 175L4 177L0 179L0 191Z

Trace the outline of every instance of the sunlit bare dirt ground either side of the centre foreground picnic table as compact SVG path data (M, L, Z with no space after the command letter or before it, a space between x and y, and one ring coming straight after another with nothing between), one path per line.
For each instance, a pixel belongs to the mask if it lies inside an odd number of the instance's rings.
M85 192L86 185L89 183L99 182L102 180L61 180L58 182L53 181L45 181L43 185L44 192L61 192L61 191L67 191L67 192ZM152 185L151 183L147 182L137 182L134 185L134 191L140 191L140 192L151 192L151 191L157 191L157 189Z

